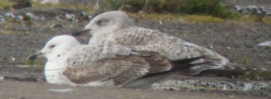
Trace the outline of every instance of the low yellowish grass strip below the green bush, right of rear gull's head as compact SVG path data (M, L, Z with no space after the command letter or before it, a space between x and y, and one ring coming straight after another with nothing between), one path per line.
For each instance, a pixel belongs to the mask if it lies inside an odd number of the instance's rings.
M195 22L202 22L202 23L254 23L254 22L263 22L266 24L271 24L271 17L264 17L259 19L257 16L251 16L249 14L240 14L239 17L234 19L223 19L219 17L213 17L209 15L180 15L180 14L158 14L158 13L131 13L125 12L132 20L135 19L147 19L147 20L155 20L155 21L162 21L162 22L186 22L186 23L195 23Z

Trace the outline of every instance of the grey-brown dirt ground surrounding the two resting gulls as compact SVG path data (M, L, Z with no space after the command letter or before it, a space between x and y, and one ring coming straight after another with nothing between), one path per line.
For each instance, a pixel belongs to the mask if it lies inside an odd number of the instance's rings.
M243 5L251 4L270 6L270 0L240 0L232 1ZM253 1L253 2L252 2ZM230 0L224 0L225 4L231 4ZM20 11L2 11L5 13L19 13L24 11L37 12L35 9ZM60 10L43 9L53 12ZM30 12L31 12L30 11ZM61 10L64 11L64 10ZM69 12L69 11L67 11ZM58 13L58 12L57 12ZM77 15L77 12L72 12ZM42 13L43 14L43 13ZM54 13L53 13L54 14ZM53 15L52 14L52 15ZM59 14L59 13L58 13ZM62 13L61 13L62 15ZM93 99L149 99L149 98L172 98L172 99L256 99L271 98L270 90L255 92L236 92L221 90L193 90L182 89L179 91L170 90L135 90L125 88L95 88L82 86L67 86L44 83L43 64L37 64L32 71L27 64L27 58L32 53L42 49L44 44L56 35L72 34L78 27L85 26L90 20L77 18L78 21L62 18L63 16L51 19L31 19L22 22L6 21L0 24L0 98L3 99L36 99L36 98L93 98ZM79 14L78 14L79 15ZM65 14L64 14L65 16ZM271 71L270 48L259 47L257 44L271 38L271 25L264 23L186 23L173 22L159 24L158 21L146 19L133 19L135 25L149 29L156 29L185 41L197 44L202 47L214 50L227 57L233 63L255 65L265 67ZM52 27L60 24L59 27ZM81 44L87 44L89 38L76 37ZM45 59L41 59L45 62ZM42 62L41 62L42 63ZM39 66L40 65L40 66ZM29 75L31 74L31 75ZM177 75L178 76L178 75ZM185 77L186 78L186 77ZM192 77L191 77L192 78ZM169 79L184 79L172 77ZM227 78L218 77L193 77L194 80L204 81L233 81ZM17 81L15 81L17 80ZM19 80L19 81L18 81ZM28 81L28 82L26 82ZM30 82L32 81L32 82ZM238 82L239 80L234 80ZM250 81L247 81L250 82ZM264 82L264 81L258 81ZM266 82L270 83L270 82ZM49 89L71 89L67 92L54 92Z

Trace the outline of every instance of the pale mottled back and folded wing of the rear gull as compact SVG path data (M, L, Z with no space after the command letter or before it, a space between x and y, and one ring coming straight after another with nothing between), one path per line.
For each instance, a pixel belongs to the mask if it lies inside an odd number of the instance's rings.
M196 63L212 62L210 64L193 67L194 70L198 71L207 69L223 69L223 66L229 62L227 58L214 51L151 29L132 27L112 33L108 37L110 37L111 40L105 40L104 42L96 41L95 43L119 44L123 46L132 46L140 50L159 52L170 60L205 56L205 58L196 61ZM94 41L95 39L91 40Z

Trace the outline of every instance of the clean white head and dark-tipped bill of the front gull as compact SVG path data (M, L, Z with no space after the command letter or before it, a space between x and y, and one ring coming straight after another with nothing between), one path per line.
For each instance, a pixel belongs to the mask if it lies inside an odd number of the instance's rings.
M28 59L34 60L37 57L44 56L47 60L52 60L62 52L70 50L77 45L80 45L80 43L72 36L57 36L49 40L41 51L31 55Z

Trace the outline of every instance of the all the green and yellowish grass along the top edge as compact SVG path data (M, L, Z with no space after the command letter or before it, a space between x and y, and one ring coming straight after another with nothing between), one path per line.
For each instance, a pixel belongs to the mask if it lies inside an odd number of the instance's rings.
M108 2L106 2L108 1ZM234 14L232 11L223 10L224 8L219 5L218 1L220 0L179 0L176 2L185 3L176 5L174 2L176 0L158 0L154 2L152 0L104 0L102 5L100 5L101 9L108 10L117 10L123 7L122 5L128 4L132 6L133 10L128 10L127 14L131 19L148 19L148 20L156 20L161 22L186 22L186 23L253 23L253 22L263 22L266 24L271 24L271 17L259 18L257 16L250 15L242 15L242 14ZM46 7L58 7L65 9L77 9L82 10L86 14L94 14L97 12L93 6L83 5L83 4L70 4L70 3L58 3L58 4L40 4L38 1L31 1L32 6L36 8L46 8ZM4 8L5 6L11 7L13 2L9 2L7 0L0 0L0 8ZM170 6L171 5L171 6ZM205 7L204 7L205 6ZM177 10L174 10L176 13L168 13L167 10L172 10L175 7L178 8L178 11L184 10L185 13L179 13ZM183 7L181 9L181 7ZM163 10L163 9L164 10ZM174 8L174 9L175 9ZM200 13L197 9L210 9L208 11L202 11ZM123 8L125 9L125 8ZM153 13L146 13L150 11L149 9L155 9L156 11L152 11ZM127 8L126 8L127 10ZM136 10L136 11L135 11ZM142 13L133 13L143 10ZM159 11L158 11L159 10ZM173 11L173 10L172 10ZM173 12L174 12L173 11ZM211 13L212 12L212 13ZM209 13L209 14L208 14ZM191 15L190 15L191 14ZM223 15L222 15L223 14ZM224 17L221 17L224 16ZM29 20L29 17L24 16L24 21ZM9 19L7 22L18 22L14 19ZM29 24L27 24L29 25Z

